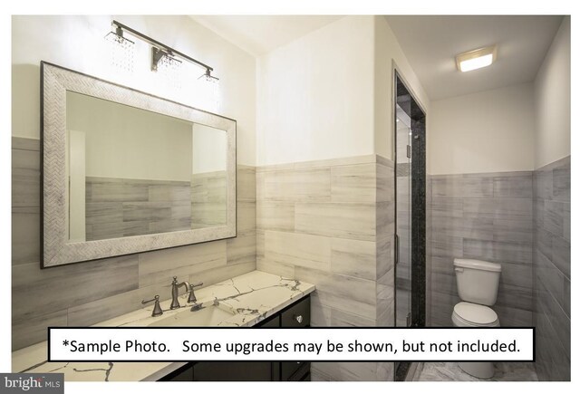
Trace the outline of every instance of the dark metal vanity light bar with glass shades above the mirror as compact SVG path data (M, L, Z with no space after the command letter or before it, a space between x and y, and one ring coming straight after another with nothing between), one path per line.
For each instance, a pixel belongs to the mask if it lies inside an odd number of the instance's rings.
M114 32L111 32L110 34L114 34L117 37L121 37L123 40L127 40L126 38L123 37L123 33L129 33L132 36L137 37L141 41L149 43L152 46L151 71L158 71L160 70L160 68L176 69L179 68L179 65L181 64L182 60L184 60L187 62L194 63L199 67L205 69L206 71L201 76L205 76L207 80L208 77L213 81L218 80L217 77L211 75L211 72L213 72L214 69L208 66L208 64L199 62L198 60L188 56L185 53L181 53L164 43L160 43L159 41L138 32L137 30L131 29L131 27L127 26L126 24L121 24L120 22L113 20L111 22L111 25ZM110 34L107 34L105 38L109 37ZM131 42L131 40L127 41Z

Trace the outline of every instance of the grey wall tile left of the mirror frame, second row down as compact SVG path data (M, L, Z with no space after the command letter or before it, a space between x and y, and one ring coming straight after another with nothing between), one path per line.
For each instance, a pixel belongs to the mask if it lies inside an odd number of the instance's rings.
M12 207L40 207L40 153L12 150Z

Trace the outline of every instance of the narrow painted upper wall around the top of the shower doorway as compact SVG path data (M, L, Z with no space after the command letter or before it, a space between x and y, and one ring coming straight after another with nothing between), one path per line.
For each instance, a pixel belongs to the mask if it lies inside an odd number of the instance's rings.
M430 101L420 84L419 78L401 50L401 45L392 33L384 16L375 16L375 68L374 68L374 152L385 158L394 158L394 102L393 102L393 62L401 77L407 83L413 97L427 113L427 146L430 144ZM429 164L428 164L429 166ZM427 168L429 172L429 168Z

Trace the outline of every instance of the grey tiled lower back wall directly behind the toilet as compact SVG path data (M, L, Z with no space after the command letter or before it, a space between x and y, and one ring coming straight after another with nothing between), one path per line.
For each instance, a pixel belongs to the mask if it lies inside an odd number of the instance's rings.
M456 257L501 264L499 322L531 325L532 172L437 175L430 187L431 325L451 325Z

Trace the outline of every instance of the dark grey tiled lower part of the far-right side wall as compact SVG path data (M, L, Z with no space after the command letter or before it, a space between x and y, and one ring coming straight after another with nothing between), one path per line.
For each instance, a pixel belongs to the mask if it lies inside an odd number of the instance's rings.
M534 323L539 380L570 380L570 156L534 171Z

